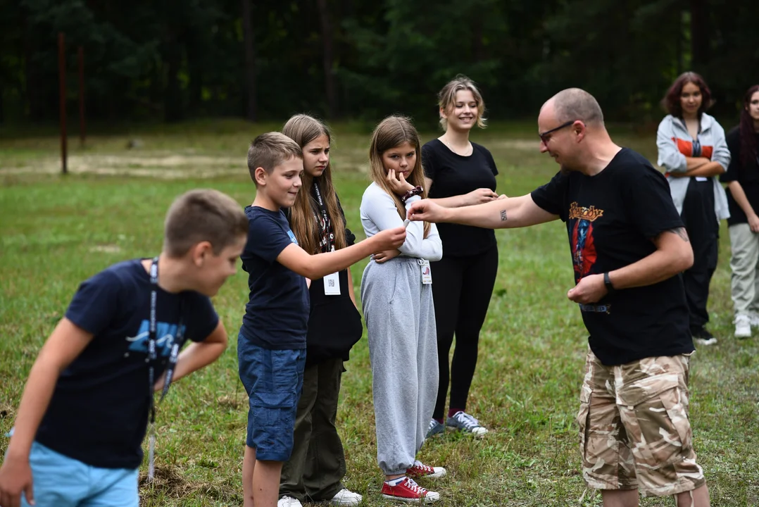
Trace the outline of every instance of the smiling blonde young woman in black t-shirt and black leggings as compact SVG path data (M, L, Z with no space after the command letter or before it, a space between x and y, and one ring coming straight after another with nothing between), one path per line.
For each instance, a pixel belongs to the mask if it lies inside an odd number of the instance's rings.
M490 152L469 140L475 125L485 127L485 102L475 84L457 76L440 90L442 136L422 147L424 181L430 199L443 206L487 203L496 194L496 162ZM487 429L468 414L467 398L477 365L477 344L498 270L496 235L490 229L439 224L442 260L433 263L433 299L440 369L437 404L428 436L446 426L481 436ZM449 351L456 336L453 361ZM451 400L444 419L449 379ZM444 426L444 424L446 426Z

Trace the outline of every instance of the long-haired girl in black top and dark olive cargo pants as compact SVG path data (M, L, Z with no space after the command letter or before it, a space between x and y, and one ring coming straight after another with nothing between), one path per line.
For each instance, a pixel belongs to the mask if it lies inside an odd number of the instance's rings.
M332 184L329 129L308 115L294 115L282 134L303 149L303 187L288 220L298 244L310 254L339 250L354 243ZM350 269L312 280L306 338L303 391L295 418L290 460L282 467L278 505L329 501L357 505L361 495L345 489L345 452L335 428L343 361L361 339Z

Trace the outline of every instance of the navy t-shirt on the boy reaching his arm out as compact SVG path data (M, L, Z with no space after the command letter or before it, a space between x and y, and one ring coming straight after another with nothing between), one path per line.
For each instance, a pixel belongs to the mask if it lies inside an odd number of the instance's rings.
M306 348L308 288L306 279L282 266L277 257L298 244L282 210L247 206L247 244L241 255L250 289L241 334L269 350Z

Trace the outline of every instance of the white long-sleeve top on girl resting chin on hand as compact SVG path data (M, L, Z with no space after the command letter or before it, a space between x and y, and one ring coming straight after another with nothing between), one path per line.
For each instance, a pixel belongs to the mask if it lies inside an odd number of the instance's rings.
M407 200L406 210L408 211L411 203L417 200L420 200L420 197L414 196ZM379 231L403 227L403 219L398 215L395 201L376 183L370 184L361 197L361 225L364 226L367 238ZM406 241L398 250L407 257L431 261L442 259L442 242L436 225L430 224L430 234L424 238L424 222L410 222L406 228Z

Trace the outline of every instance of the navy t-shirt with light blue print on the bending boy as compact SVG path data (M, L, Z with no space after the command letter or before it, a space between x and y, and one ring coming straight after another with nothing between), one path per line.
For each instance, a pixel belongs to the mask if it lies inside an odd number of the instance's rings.
M80 285L66 318L94 337L58 378L37 442L93 467L140 466L153 392L147 363L152 290L139 259L115 264ZM206 296L157 288L156 379L174 345L181 305L185 339L202 342L219 324Z

